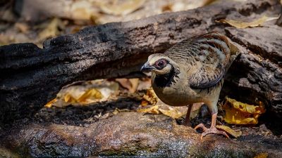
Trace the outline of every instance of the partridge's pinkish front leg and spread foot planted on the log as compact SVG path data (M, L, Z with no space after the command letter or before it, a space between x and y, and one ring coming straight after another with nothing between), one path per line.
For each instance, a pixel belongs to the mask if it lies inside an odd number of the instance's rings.
M204 136L207 136L208 134L219 134L219 135L223 135L229 138L229 136L224 131L219 131L218 129L216 129L216 116L217 116L217 113L212 114L212 125L210 129L207 129L207 127L205 127L204 124L199 124L195 126L195 129L202 128L204 131L202 133L201 140Z

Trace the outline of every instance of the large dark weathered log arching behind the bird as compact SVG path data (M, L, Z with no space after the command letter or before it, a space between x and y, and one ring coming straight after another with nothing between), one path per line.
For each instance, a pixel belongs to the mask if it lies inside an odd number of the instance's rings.
M280 11L281 4L274 0L228 1L142 20L87 27L77 34L45 41L44 48L34 44L1 46L0 120L7 122L33 114L54 98L62 86L73 81L137 72L149 54L162 53L178 41L213 30L226 31L250 50L234 63L226 88L252 92L267 103L269 110L281 114L281 27L271 24L234 29L215 22L221 18L254 20L262 14L278 15Z

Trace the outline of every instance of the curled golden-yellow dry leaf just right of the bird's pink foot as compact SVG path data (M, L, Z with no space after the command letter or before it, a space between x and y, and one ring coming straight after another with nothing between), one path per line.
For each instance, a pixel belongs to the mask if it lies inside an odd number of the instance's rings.
M228 124L257 124L257 119L265 112L262 104L248 105L231 98L226 98L223 110L225 110L223 119Z

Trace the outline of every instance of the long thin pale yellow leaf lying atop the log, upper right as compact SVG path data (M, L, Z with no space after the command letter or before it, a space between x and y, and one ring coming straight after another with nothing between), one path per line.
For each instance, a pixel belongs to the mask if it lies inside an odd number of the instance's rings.
M262 18L259 18L259 19L255 20L255 21L252 21L252 22L241 22L241 21L226 20L226 19L221 19L221 20L216 21L216 22L228 23L229 25L231 25L233 27L243 29L243 28L247 28L247 27L257 27L259 25L262 25L266 21L276 20L279 17L280 17L280 15L278 17L275 17L275 18L266 17L264 15Z

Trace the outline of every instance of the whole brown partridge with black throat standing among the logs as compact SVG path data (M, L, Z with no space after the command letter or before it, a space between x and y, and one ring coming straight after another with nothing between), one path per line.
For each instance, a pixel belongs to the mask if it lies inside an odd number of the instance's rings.
M151 83L158 98L171 106L188 106L183 125L190 126L195 103L204 103L212 114L210 128L202 128L201 139L209 134L228 135L216 129L217 102L226 72L240 54L238 45L219 32L209 32L180 41L164 53L149 55L141 67L152 72Z

